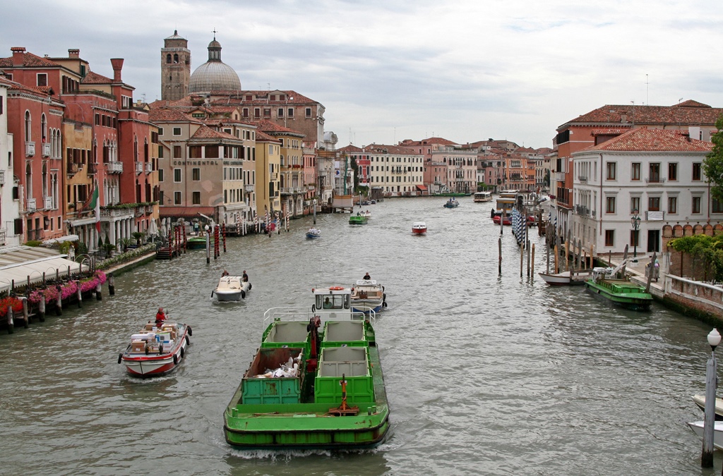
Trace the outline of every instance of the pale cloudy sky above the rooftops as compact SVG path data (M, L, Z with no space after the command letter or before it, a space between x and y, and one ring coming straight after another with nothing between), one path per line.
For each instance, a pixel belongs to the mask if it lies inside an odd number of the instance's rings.
M24 0L0 49L80 48L90 68L160 99L163 38L192 70L216 39L249 90L295 90L326 108L339 146L445 137L551 147L557 126L605 104L723 107L719 1Z

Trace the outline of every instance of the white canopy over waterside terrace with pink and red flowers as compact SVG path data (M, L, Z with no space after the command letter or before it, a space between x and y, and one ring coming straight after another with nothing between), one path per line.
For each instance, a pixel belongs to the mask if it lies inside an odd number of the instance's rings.
M0 292L10 290L13 281L16 287L27 285L28 277L30 284L42 282L43 273L46 280L65 277L68 272L78 274L81 264L66 256L56 250L34 246L16 246L1 251ZM87 271L89 268L83 265L82 269Z

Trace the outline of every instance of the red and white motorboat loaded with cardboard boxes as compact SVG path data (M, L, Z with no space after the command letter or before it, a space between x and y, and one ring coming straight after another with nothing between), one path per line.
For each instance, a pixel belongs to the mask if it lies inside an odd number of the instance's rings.
M118 355L118 363L126 366L132 376L159 376L168 373L186 356L193 335L190 326L179 322L149 322L137 334L125 352Z

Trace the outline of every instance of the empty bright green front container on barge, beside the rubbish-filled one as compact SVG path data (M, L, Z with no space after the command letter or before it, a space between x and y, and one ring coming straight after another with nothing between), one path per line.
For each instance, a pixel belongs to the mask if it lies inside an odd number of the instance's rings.
M374 402L374 382L367 347L325 347L314 383L317 403L341 404L341 381L346 379L346 402Z

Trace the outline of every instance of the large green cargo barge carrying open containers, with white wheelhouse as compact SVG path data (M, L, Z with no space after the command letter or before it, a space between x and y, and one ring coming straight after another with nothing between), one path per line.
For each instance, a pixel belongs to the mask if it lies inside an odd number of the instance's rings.
M229 444L360 449L387 436L389 407L374 315L365 319L351 312L349 288L314 293L311 311L265 313L269 324L261 347L223 415Z

